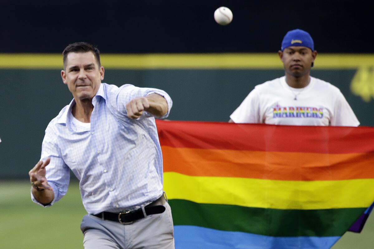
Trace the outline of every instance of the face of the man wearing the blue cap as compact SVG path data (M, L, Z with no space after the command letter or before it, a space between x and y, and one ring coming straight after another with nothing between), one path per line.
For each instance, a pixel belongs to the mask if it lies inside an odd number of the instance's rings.
M284 49L283 52L279 51L278 54L283 62L286 74L301 77L309 74L317 51L312 52L308 47L291 46Z

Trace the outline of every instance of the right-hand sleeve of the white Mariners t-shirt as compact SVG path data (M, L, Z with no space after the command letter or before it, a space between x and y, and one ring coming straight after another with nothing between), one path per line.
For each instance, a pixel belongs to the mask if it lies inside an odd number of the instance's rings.
M332 126L352 126L360 125L355 113L349 106L343 94L338 90L337 98L335 99L334 115L331 118L330 124Z

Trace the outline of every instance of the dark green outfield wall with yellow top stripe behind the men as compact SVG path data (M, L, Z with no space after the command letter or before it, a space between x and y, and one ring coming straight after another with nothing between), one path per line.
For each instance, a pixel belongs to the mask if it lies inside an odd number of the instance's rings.
M284 75L276 54L102 55L105 83L165 90L169 119L223 121L255 85ZM49 121L72 96L55 54L0 55L0 178L28 178ZM374 55L318 55L311 75L340 88L361 125L374 125Z

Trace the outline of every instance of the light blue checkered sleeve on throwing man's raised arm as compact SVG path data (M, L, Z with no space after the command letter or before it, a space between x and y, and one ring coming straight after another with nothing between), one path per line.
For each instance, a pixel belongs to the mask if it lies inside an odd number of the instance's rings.
M135 99L135 98L147 97L149 94L152 94L152 93L156 93L156 94L159 94L160 96L164 97L164 99L166 100L166 103L168 104L168 112L164 116L157 117L157 118L160 118L160 119L167 118L169 116L170 109L173 105L173 102L172 102L169 94L167 94L163 90L159 90L159 89L156 89L156 88L135 87L134 85L130 85L130 84L122 85L119 88L119 92L118 92L118 95L117 95L117 98L116 98L117 99L116 100L117 101L117 103L116 103L117 108L122 113L122 115L126 116L127 115L126 104L128 102L130 102L132 99ZM144 118L148 118L148 117L151 117L151 116L153 116L153 115L151 115L148 112L143 112L143 115L138 119L144 119Z

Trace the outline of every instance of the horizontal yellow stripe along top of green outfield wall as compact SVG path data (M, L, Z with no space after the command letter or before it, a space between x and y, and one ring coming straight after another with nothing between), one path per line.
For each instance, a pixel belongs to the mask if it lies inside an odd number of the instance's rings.
M101 64L114 69L282 69L277 53L102 54ZM316 69L374 66L371 54L321 54ZM61 54L0 54L0 68L62 69Z

